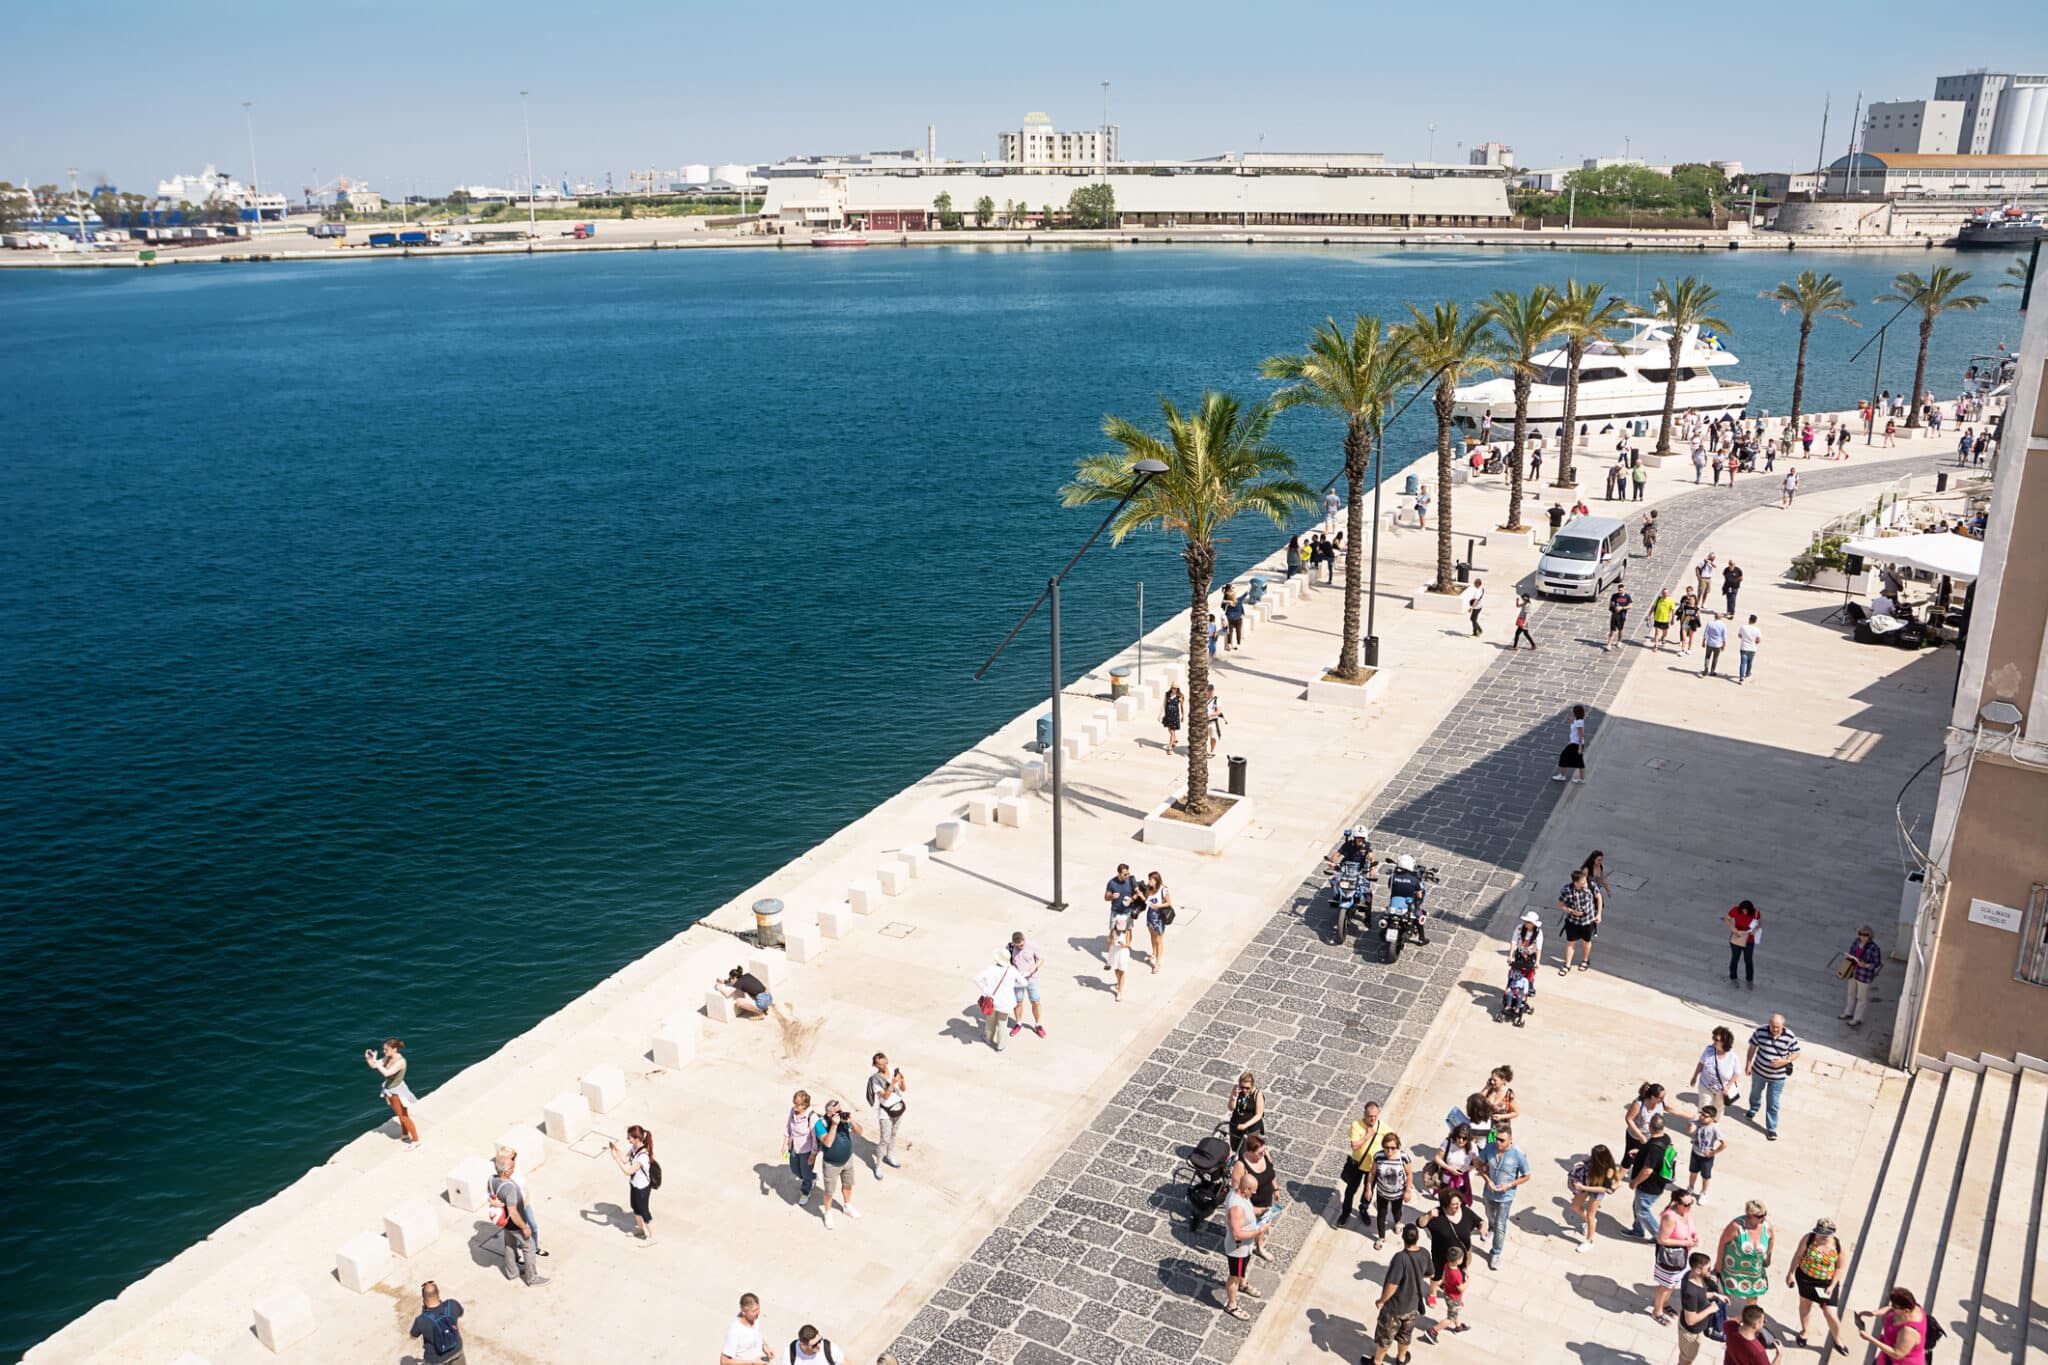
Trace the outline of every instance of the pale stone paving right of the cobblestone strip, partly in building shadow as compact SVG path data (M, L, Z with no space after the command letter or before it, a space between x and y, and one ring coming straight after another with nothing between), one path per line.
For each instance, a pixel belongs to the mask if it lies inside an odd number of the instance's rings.
M1896 915L1892 800L1939 749L1956 665L1948 649L1907 655L1853 645L1817 624L1837 596L1778 581L1815 524L1868 495L1802 497L1792 512L1757 510L1714 534L1722 559L1733 553L1747 571L1743 614L1761 616L1757 673L1737 688L1698 677L1698 651L1636 659L1589 753L1587 786L1552 819L1526 888L1509 892L1497 921L1505 933L1524 905L1546 911L1536 1013L1520 1029L1493 1017L1505 952L1489 939L1466 964L1464 1005L1444 1013L1391 1097L1393 1126L1434 1150L1442 1115L1491 1066L1511 1064L1524 1111L1518 1144L1536 1173L1516 1203L1501 1273L1475 1277L1473 1330L1417 1347L1419 1359L1675 1359L1673 1332L1647 1312L1649 1246L1618 1236L1626 1199L1608 1199L1593 1252L1579 1254L1577 1234L1563 1224L1565 1169L1595 1142L1620 1152L1622 1107L1640 1081L1661 1081L1690 1109L1698 1097L1686 1083L1716 1023L1731 1025L1741 1046L1782 1009L1804 1040L1804 1066L1786 1091L1780 1142L1765 1142L1761 1126L1741 1115L1722 1121L1729 1150L1696 1218L1702 1238L1716 1240L1749 1197L1769 1205L1788 1246L1821 1214L1855 1234L1876 1173L1870 1156L1882 1154L1903 1093L1882 1064L1894 1009L1888 986L1898 976L1890 964L1872 1019L1853 1033L1835 1021L1841 986L1829 958L1858 923L1882 933ZM1673 559L1665 577L1675 585L1681 575L1690 577ZM1659 579L1640 569L1630 577L1638 602L1655 596ZM1593 847L1608 853L1614 902L1595 970L1559 978L1556 888ZM1729 986L1718 923L1743 896L1767 913L1753 993ZM1384 1263L1356 1224L1317 1232L1243 1359L1370 1353ZM1784 1267L1780 1257L1780 1277ZM1796 1312L1782 1289L1765 1306L1774 1316ZM1702 1359L1718 1359L1718 1349Z

